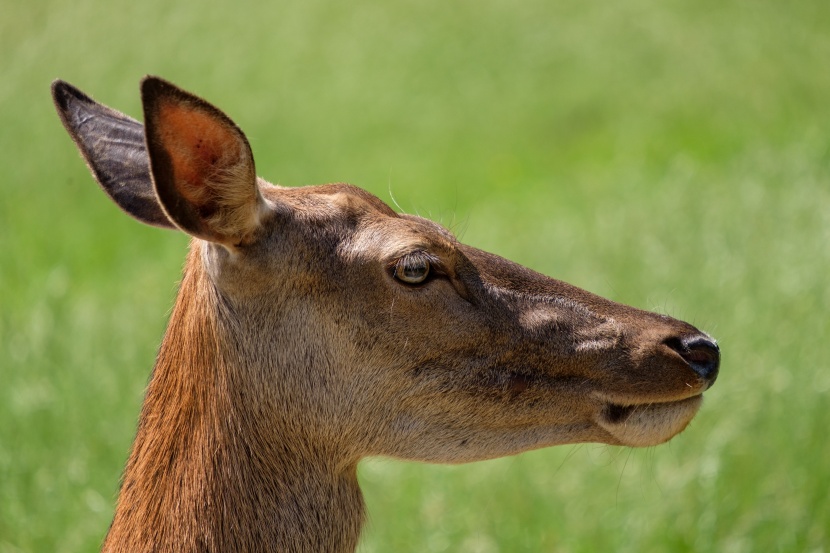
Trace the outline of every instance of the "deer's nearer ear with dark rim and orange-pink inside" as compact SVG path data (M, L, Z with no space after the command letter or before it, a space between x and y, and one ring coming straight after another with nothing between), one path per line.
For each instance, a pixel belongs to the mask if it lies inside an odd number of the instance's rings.
M141 82L150 170L164 212L188 234L251 241L266 211L245 135L206 101L157 77Z

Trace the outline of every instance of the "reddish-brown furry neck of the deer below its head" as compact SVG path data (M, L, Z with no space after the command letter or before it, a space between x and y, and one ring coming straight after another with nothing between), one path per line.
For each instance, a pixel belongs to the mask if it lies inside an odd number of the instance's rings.
M354 551L356 464L251 411L198 248L147 389L104 551ZM255 408L254 408L255 409ZM277 426L277 428L274 428Z

